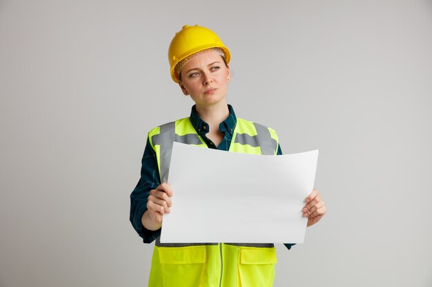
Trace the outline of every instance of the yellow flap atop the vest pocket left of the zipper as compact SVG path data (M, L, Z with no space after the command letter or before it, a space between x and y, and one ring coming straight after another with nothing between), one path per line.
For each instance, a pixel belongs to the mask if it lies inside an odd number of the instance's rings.
M161 264L206 263L206 246L158 247Z

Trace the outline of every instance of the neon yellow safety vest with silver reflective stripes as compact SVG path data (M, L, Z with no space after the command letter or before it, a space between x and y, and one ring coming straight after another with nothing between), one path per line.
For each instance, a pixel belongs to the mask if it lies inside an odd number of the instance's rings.
M148 133L148 140L156 153L161 182L168 179L173 142L207 147L189 118L152 129ZM278 138L273 129L237 118L229 151L275 155L277 147ZM158 238L148 286L273 286L276 262L273 244L162 244Z

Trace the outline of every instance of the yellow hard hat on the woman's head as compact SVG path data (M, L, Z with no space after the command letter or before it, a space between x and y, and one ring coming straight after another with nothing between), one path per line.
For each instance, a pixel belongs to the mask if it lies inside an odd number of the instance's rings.
M215 32L199 25L184 25L181 31L175 33L168 49L168 61L173 81L179 83L179 75L175 71L175 66L179 61L186 59L191 54L212 47L220 48L225 54L226 63L229 63L230 51Z

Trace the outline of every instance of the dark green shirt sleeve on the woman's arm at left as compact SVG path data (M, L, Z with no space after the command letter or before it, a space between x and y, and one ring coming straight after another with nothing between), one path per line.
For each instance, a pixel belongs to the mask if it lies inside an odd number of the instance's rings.
M130 216L129 220L144 243L153 242L161 234L161 229L150 231L141 223L141 217L147 210L148 195L151 189L156 189L160 184L159 169L157 168L156 153L147 138L146 149L141 160L141 178L135 189L130 193Z

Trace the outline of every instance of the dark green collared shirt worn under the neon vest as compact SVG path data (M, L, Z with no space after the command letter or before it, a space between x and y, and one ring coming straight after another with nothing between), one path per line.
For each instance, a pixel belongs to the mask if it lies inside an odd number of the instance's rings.
M202 136L206 142L207 147L210 149L220 149L222 151L228 151L233 139L233 132L235 125L237 125L237 117L235 116L234 109L228 105L229 116L222 123L219 124L219 131L224 134L222 142L216 147L215 144L207 138L208 123L204 122L202 118L199 118L195 105L190 111L190 123L192 123L195 131L199 136ZM280 145L277 147L277 154L282 154ZM146 149L144 149L144 156L141 160L141 178L137 186L130 194L130 216L129 220L135 231L143 238L144 243L150 243L156 240L161 234L161 229L157 231L149 231L144 228L141 223L141 217L147 210L148 195L150 190L156 189L161 184L159 177L159 169L157 168L156 153L152 149L150 142L147 139ZM229 182L227 182L229 184ZM257 231L259 232L259 231ZM294 244L285 244L286 248L291 249Z

